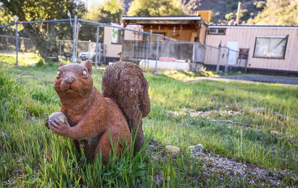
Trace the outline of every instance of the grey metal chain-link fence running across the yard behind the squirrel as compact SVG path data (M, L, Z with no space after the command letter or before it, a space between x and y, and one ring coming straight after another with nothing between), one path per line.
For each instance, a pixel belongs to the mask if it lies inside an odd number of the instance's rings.
M233 57L233 58L232 58ZM238 57L238 58L237 58ZM227 72L236 62L245 71L248 54L227 47L177 41L149 32L142 26L104 24L82 19L15 22L0 26L0 62L34 65L62 61L98 65L128 61L143 70L198 71L216 65Z

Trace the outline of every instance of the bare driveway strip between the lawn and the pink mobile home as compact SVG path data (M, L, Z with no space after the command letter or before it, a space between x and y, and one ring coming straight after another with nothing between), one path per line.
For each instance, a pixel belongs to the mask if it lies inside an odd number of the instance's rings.
M246 75L226 75L216 77L197 77L183 79L184 81L196 81L196 80L215 80L215 81L239 81L243 83L278 83L283 85L296 85L298 86L298 78L296 77L285 77L285 76L267 76L257 74L246 74Z

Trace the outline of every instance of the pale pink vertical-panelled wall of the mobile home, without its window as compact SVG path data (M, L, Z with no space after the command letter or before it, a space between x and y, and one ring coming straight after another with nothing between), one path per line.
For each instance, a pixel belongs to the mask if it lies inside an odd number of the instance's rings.
M239 48L249 48L248 68L298 71L298 27L292 27L292 29L272 29L270 28L270 26L264 26L262 28L254 28L253 26L245 27L247 28L231 26L230 28L226 29L226 33L224 35L207 34L206 44L219 46L219 44L221 43L221 46L227 46L228 41L238 41L238 50ZM255 39L258 35L289 35L287 40L285 58L273 59L253 57ZM224 65L226 53L227 49L222 48L220 56L221 65ZM217 61L218 50L207 48L204 62L206 64L216 65Z

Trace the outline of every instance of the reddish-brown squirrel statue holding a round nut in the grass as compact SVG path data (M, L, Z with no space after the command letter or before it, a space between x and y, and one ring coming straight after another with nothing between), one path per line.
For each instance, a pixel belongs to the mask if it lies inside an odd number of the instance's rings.
M46 118L45 126L70 137L79 153L81 141L87 159L101 151L102 162L107 164L112 152L110 136L113 144L118 143L117 156L123 143L131 147L132 133L136 133L134 153L140 151L144 144L142 118L150 112L150 100L148 82L139 66L131 62L107 66L101 95L93 86L90 61L84 66L60 63L54 88L65 116L55 112Z

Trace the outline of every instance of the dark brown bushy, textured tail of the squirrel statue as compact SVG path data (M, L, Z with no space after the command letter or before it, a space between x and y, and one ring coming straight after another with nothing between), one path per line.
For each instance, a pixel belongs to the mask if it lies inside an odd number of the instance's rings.
M144 144L142 118L150 112L148 82L139 66L131 62L115 62L106 67L102 78L102 95L113 99L122 110L131 133L137 131L140 123L134 153Z

